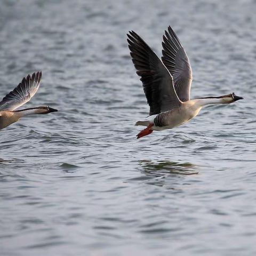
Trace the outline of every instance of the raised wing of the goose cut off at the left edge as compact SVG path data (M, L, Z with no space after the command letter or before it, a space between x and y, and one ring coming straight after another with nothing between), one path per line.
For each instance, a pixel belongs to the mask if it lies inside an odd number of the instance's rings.
M0 110L14 110L28 102L37 92L42 72L24 77L19 85L9 92L0 102Z

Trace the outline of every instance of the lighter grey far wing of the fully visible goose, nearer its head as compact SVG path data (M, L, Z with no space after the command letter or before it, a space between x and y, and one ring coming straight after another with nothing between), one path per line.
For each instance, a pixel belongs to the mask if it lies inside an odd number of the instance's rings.
M173 77L175 91L181 101L190 99L192 69L188 56L172 28L163 35L162 61Z

